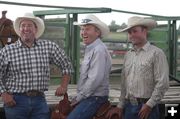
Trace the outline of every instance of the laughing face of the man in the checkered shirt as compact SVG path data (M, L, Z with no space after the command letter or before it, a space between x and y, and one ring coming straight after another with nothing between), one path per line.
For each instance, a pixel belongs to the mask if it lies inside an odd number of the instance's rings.
M35 40L37 28L33 21L24 19L20 23L19 30L20 30L21 40L23 42Z

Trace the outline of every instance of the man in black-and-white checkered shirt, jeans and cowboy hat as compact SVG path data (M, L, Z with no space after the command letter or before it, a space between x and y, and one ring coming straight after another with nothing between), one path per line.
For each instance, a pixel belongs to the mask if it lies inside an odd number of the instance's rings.
M6 119L49 119L44 91L48 90L50 63L63 75L57 96L67 92L72 65L57 44L39 39L45 29L42 19L26 13L15 20L14 29L20 38L0 53L0 93Z

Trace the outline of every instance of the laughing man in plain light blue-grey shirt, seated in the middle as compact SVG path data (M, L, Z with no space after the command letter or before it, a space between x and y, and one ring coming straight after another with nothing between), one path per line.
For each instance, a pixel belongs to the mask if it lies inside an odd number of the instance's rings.
M92 119L98 108L108 101L111 56L101 38L107 36L109 28L94 15L87 15L74 25L80 26L86 48L77 95L72 101L76 107L67 119Z

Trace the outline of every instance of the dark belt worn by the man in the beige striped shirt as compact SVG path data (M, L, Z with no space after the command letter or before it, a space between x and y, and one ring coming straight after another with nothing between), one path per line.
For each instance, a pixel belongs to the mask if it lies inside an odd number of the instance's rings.
M125 99L126 102L131 103L132 105L139 105L142 103L146 103L149 98L133 98L133 99Z

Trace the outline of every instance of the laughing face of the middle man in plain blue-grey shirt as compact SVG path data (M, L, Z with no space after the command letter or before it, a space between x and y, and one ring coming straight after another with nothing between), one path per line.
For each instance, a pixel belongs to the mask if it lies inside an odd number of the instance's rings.
M100 36L100 30L94 25L88 24L81 26L80 34L84 44L89 45Z

